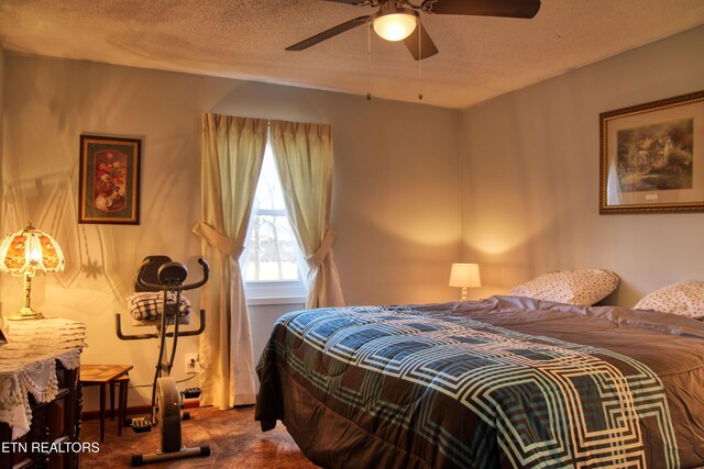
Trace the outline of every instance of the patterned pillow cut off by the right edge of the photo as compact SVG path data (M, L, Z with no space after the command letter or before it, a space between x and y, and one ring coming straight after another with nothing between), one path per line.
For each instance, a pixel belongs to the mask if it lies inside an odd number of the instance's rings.
M634 308L704 319L704 281L669 284L645 295Z

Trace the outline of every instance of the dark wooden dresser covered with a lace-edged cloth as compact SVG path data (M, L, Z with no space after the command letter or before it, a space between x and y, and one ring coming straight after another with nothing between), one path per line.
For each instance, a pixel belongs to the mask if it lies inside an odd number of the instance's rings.
M77 468L80 351L86 326L63 319L8 322L0 345L0 468ZM96 444L97 445L97 444Z

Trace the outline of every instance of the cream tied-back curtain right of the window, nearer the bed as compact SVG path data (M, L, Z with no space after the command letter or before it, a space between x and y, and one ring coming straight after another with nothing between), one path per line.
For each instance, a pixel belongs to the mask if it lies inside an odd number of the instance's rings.
M286 211L310 267L306 308L343 306L330 228L332 127L272 121L271 138Z

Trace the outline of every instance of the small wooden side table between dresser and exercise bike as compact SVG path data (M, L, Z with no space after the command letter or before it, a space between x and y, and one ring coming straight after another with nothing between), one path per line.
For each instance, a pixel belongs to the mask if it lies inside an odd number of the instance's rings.
M113 386L116 383L120 384L118 435L122 435L122 425L124 424L127 412L128 383L130 381L128 373L132 368L132 365L80 365L80 386L100 387L100 443L105 439L106 433L106 386L110 384L110 402L112 403L114 402L112 397Z

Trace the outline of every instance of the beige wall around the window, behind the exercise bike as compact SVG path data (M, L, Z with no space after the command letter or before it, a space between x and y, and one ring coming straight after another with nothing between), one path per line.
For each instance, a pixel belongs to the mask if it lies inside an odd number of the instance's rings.
M64 248L67 270L38 276L32 304L87 323L85 362L133 364L132 382L151 383L155 342L119 340L113 315L124 312L144 256L166 254L198 271L200 242L190 230L200 211L205 112L332 124L333 249L349 304L457 294L447 286L461 238L457 111L8 52L2 77L2 230L31 217ZM143 138L139 226L77 223L81 133ZM19 308L21 290L19 279L3 276L4 314ZM189 298L197 303L198 293ZM255 350L294 308L252 309ZM179 355L196 350L196 338L179 345ZM175 375L184 375L180 360ZM92 391L88 410L97 405ZM148 393L131 391L130 405Z

